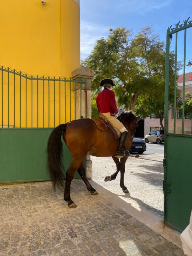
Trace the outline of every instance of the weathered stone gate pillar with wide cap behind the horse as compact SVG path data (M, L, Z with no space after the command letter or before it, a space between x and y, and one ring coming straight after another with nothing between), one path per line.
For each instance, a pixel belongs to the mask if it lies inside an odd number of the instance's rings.
M85 83L78 83L73 86L74 91L74 112L76 119L81 117L91 118L91 80L94 76L94 71L89 68L80 67L71 73L71 78L77 81L86 78ZM76 100L76 104L75 104ZM74 114L75 116L75 114ZM92 161L90 155L87 155L87 178L92 179Z

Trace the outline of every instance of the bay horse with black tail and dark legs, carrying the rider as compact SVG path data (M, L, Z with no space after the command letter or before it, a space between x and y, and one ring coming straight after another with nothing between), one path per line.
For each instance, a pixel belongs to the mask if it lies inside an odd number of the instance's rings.
M135 116L131 110L123 112L118 116L118 120L120 120L128 130L128 136L125 142L125 147L128 150L132 146L132 138L139 118L140 116ZM65 176L62 164L61 136L72 156L72 162ZM60 124L54 128L48 139L47 166L53 188L55 189L56 186L64 188L64 200L68 203L70 208L76 207L76 204L70 198L70 186L76 170L84 181L88 191L90 191L92 195L98 194L86 178L83 160L87 154L100 157L112 156L117 170L111 176L107 176L105 181L116 179L120 171L120 187L124 193L128 193L128 189L124 185L124 172L127 157L120 158L120 160L114 157L118 145L119 141L114 139L114 134L109 128L106 131L101 131L97 128L95 122L89 118L74 120L66 124Z

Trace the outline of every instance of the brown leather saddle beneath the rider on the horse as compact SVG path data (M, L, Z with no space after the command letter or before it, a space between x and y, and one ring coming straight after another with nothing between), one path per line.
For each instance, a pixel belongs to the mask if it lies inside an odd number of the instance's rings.
M95 122L95 124L96 124L96 126L98 127L99 130L106 131L106 130L108 130L108 128L110 128L111 131L114 134L114 139L115 140L120 140L121 132L119 130L117 130L114 126L112 126L107 121L107 118L103 114L100 114L98 116L98 118L95 118L95 119L92 119L92 120Z

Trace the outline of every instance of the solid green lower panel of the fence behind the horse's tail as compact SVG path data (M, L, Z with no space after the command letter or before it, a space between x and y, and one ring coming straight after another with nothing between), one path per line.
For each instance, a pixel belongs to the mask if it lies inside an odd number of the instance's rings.
M46 168L46 147L52 130L0 128L0 183L50 180ZM64 141L62 143L66 171L71 154ZM79 177L76 173L75 178Z

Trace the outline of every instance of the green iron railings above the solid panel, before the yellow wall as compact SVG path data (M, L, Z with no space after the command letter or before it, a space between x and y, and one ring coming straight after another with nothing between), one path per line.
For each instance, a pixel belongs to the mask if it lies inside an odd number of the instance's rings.
M0 81L0 127L50 128L76 119L78 85L82 116L86 79L33 76L1 66Z

